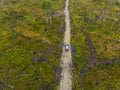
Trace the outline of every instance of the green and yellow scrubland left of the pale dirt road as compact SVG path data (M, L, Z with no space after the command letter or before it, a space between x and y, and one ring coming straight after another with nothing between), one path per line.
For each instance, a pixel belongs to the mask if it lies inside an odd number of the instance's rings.
M63 3L64 0L0 1L0 86L4 90L12 86L15 90L57 89L54 69L59 67L64 16L51 14L49 24L46 13L63 10Z

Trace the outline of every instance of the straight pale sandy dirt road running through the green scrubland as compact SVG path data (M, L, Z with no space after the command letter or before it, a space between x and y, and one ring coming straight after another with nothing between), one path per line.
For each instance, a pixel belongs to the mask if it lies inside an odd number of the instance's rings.
M66 0L65 6L65 36L64 36L64 43L69 43L70 48L69 51L65 51L63 46L63 52L61 56L61 80L59 90L71 90L72 89L72 58L71 58L71 44L70 44L70 17L69 17L69 0Z

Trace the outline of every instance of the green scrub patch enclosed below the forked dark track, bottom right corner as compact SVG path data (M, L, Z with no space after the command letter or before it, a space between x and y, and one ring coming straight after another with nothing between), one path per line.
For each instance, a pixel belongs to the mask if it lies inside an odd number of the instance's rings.
M120 63L115 65L96 65L84 76L85 90L119 90Z

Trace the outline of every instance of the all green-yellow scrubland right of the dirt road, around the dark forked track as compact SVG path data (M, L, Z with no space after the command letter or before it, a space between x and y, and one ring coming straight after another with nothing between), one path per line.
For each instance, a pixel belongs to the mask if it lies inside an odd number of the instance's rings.
M80 85L80 70L90 59L91 51L84 32L88 33L96 49L98 61L120 57L120 2L119 0L71 0L72 44L76 47L73 54L73 90L119 90L119 62L113 65L95 65L83 76ZM111 75L110 75L111 74ZM110 78L109 78L110 77ZM101 81L101 79L105 79Z

